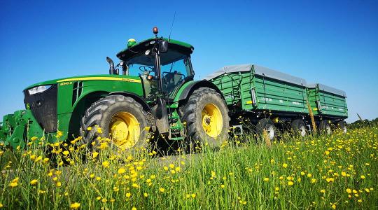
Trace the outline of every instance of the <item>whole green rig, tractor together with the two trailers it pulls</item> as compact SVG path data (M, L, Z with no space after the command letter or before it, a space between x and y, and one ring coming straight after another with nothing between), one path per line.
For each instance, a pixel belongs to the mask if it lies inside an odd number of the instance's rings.
M25 88L25 110L3 116L0 141L25 148L29 141L69 141L82 137L90 147L97 137L116 148L147 146L149 136L219 147L230 126L248 118L269 137L282 125L305 135L311 130L307 104L320 130L345 129L345 92L254 64L225 66L194 80L193 46L158 37L130 39L111 58L109 74L74 76ZM232 119L232 120L231 120Z

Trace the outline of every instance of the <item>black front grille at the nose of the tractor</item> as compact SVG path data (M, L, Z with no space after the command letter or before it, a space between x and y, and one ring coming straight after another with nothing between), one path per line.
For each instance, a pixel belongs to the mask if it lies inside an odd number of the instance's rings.
M29 104L31 113L46 133L57 131L57 85L37 94L24 91L25 106Z

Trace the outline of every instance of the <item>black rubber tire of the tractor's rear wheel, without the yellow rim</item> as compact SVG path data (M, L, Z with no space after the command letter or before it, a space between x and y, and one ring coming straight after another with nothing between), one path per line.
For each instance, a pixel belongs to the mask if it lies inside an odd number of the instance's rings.
M202 127L202 111L205 106L215 105L221 112L221 132L216 137L210 137ZM210 148L219 148L228 139L230 129L228 108L221 94L208 87L200 87L190 95L188 103L183 106L182 122L186 123L188 146L195 146L195 141L202 144L209 144Z

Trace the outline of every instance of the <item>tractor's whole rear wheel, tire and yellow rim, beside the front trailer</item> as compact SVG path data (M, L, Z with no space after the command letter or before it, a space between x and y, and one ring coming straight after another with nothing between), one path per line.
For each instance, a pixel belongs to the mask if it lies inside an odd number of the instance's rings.
M189 146L195 141L219 148L230 129L228 108L221 94L208 87L200 87L183 106L182 122L186 123Z

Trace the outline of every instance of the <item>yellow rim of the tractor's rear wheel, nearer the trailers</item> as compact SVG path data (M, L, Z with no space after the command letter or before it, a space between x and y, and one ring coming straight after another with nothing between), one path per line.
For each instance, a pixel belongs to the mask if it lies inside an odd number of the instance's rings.
M218 137L223 127L221 110L214 104L207 104L202 110L202 127L211 138Z

